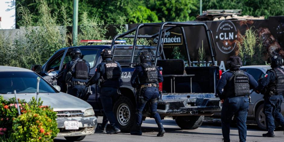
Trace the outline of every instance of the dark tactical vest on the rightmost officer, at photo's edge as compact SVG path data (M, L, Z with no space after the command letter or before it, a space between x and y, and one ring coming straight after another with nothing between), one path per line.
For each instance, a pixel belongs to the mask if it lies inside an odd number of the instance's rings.
M273 68L270 69L272 72L275 73L275 80L268 84L268 90L273 91L273 93L281 94L284 92L284 74L281 73L282 68Z

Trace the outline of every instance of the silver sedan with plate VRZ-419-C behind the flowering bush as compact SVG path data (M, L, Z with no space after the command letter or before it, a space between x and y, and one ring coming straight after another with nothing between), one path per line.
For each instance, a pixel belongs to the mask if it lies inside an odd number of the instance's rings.
M0 95L5 99L17 97L29 101L36 98L37 78L40 77L29 69L0 66ZM97 126L97 118L89 103L72 95L60 92L59 86L51 86L43 78L39 83L39 95L43 105L49 105L57 112L57 124L60 133L69 141L83 140L86 135L93 134Z

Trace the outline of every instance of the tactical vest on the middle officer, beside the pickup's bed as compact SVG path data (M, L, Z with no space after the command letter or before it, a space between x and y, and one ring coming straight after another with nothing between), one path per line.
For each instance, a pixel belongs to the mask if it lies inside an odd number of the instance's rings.
M155 83L158 82L157 67L155 65L149 65L147 63L141 63L144 75L140 78L140 83Z

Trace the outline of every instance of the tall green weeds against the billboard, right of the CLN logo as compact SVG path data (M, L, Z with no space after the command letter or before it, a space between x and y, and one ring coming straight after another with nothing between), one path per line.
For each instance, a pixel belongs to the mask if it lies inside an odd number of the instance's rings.
M244 65L259 65L263 64L263 44L257 37L257 30L253 30L253 27L245 31L244 36L241 37L241 41L237 41L237 53L243 60Z

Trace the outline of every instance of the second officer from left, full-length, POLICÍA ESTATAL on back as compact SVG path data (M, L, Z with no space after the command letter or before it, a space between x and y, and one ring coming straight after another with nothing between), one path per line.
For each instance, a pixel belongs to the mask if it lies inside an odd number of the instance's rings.
M93 84L97 83L101 87L101 102L104 109L104 116L102 125L98 126L98 129L105 133L108 121L112 126L111 131L107 131L108 134L120 133L120 128L115 115L112 111L113 100L118 98L118 88L121 84L121 66L118 62L111 60L111 50L104 49L101 52L102 63L98 64L93 79Z

